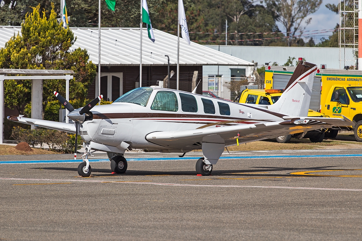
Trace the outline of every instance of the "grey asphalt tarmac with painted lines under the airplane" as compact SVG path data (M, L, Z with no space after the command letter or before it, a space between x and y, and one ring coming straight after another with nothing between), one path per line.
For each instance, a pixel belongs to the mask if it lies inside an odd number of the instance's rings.
M97 154L89 178L72 154L0 156L0 240L362 239L362 150L226 152L196 176L200 156L126 153L112 175Z

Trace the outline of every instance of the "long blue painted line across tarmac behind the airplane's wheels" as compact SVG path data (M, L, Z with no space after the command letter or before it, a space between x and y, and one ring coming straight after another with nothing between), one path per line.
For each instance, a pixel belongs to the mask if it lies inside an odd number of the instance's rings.
M201 153L200 153L201 156ZM344 154L344 155L275 155L275 156L222 156L220 159L273 159L273 158L338 158L338 157L362 157L362 154ZM140 161L179 161L179 160L197 160L197 157L183 158L130 158L127 162ZM77 163L77 160L25 160L25 161L0 161L0 164L24 164L24 163ZM89 159L89 162L109 162L109 159Z

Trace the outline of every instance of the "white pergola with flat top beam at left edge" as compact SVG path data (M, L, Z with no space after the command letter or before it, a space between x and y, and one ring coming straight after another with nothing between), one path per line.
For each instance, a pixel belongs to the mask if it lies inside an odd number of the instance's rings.
M8 76L8 75L25 76ZM4 81L7 79L31 79L31 118L43 119L43 79L65 79L66 99L69 100L69 81L73 78L73 70L48 70L48 69L0 69L0 145L4 138ZM66 115L68 110L66 110ZM66 122L68 123L68 118ZM31 126L35 128L35 126Z

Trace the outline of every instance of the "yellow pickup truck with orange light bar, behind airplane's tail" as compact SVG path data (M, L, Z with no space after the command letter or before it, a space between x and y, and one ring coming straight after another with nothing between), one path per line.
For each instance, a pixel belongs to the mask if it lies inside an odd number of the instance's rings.
M245 89L241 92L239 103L249 103L249 104L260 104L260 105L270 105L278 101L279 97L282 95L284 90L253 90ZM321 116L319 112L309 109L308 116ZM312 130L304 135L303 133L297 133L293 135L283 135L277 137L277 142L287 143L290 141L291 137L295 138L309 138L311 142L322 142L325 137L326 130Z

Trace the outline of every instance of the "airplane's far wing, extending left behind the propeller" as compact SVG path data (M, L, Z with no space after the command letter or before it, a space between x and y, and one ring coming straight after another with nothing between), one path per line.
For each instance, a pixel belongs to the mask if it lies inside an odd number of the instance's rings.
M31 119L22 116L8 116L8 120L16 121L28 125L35 125L40 127L45 127L53 130L61 130L63 132L75 133L75 126L71 123L63 123L58 121L48 121L48 120L39 120Z

